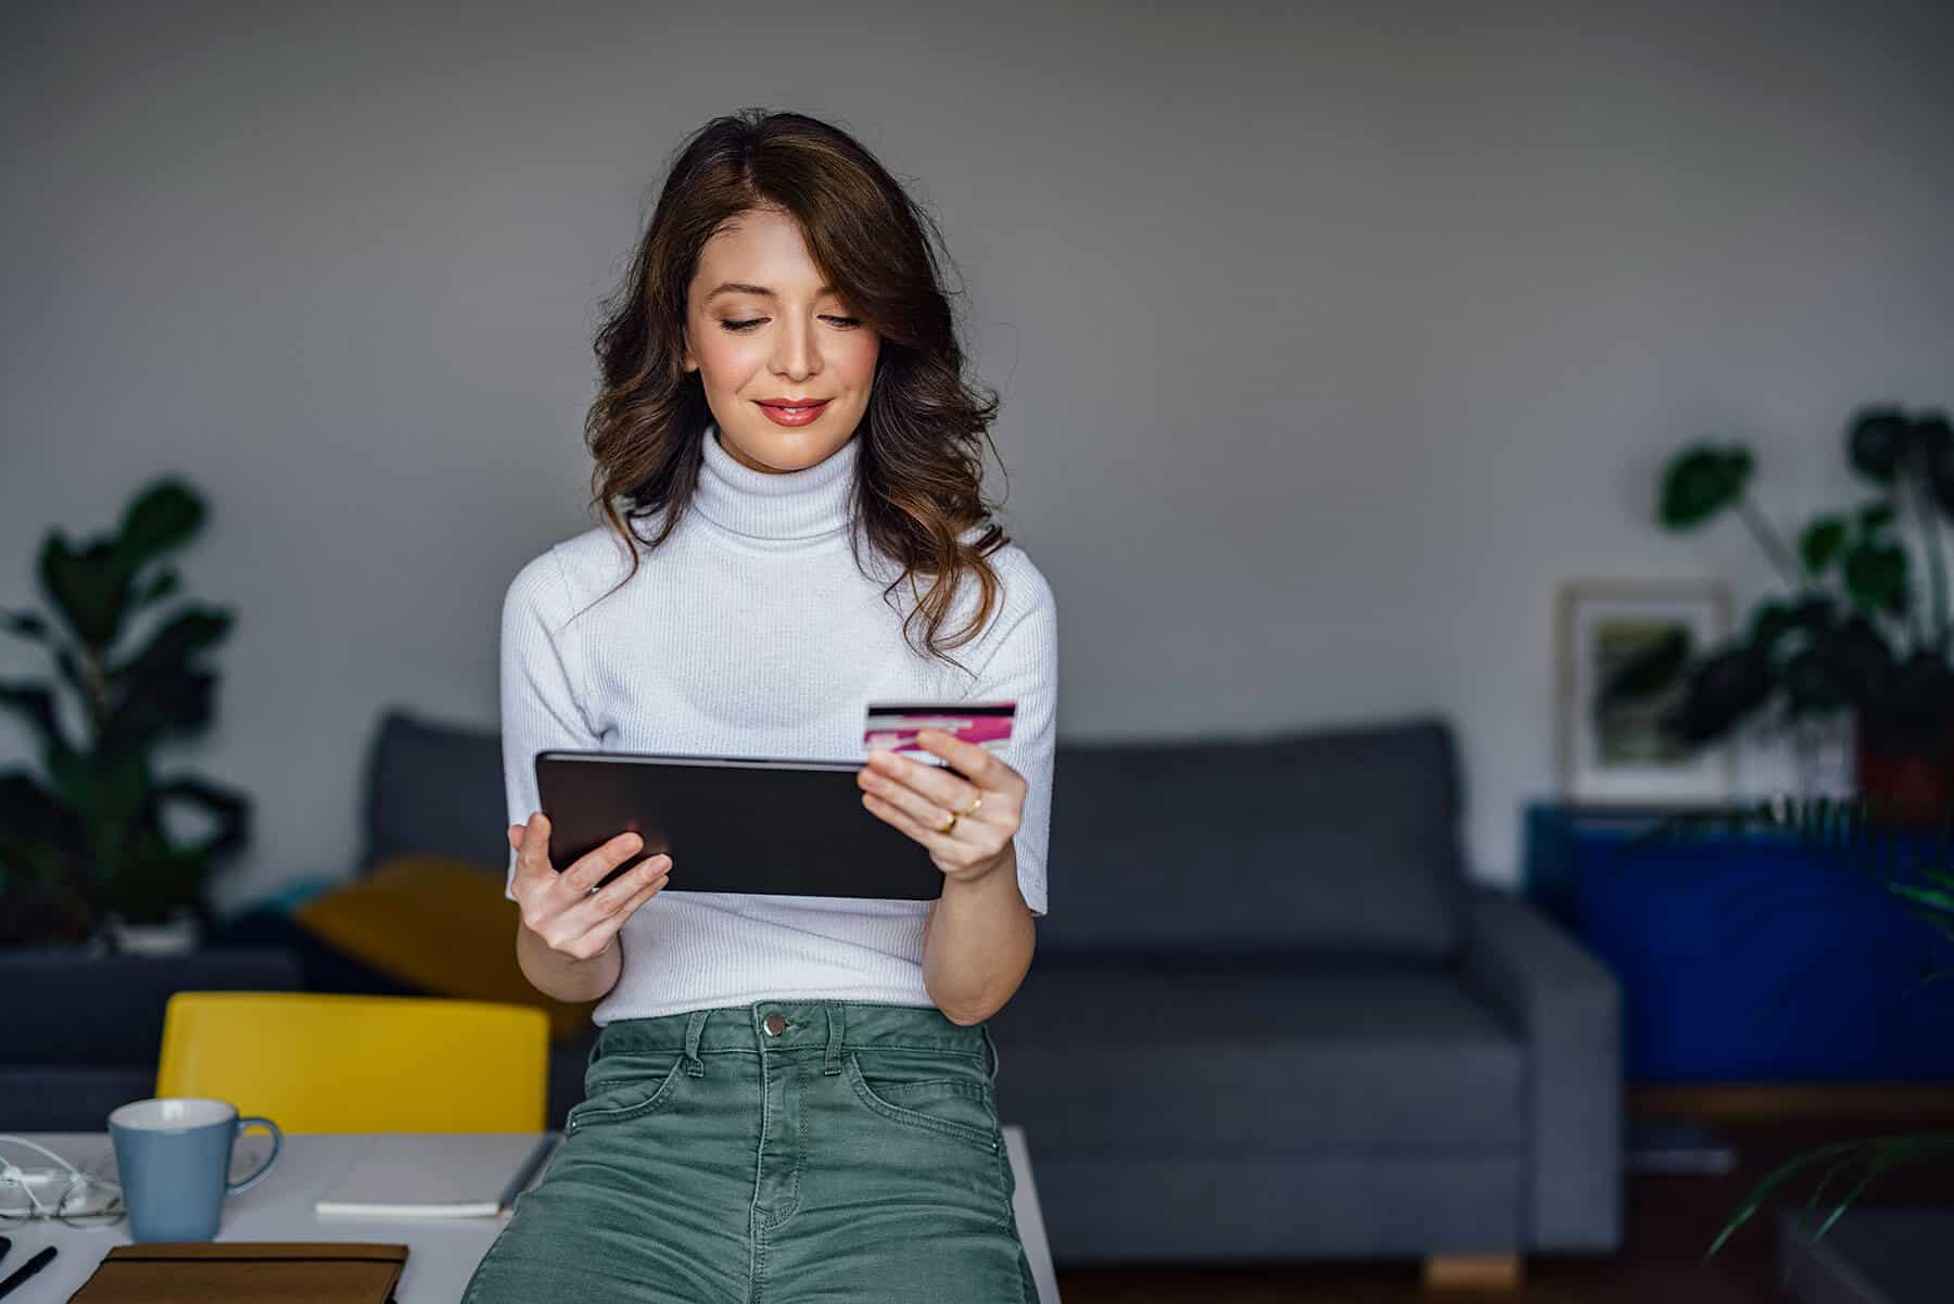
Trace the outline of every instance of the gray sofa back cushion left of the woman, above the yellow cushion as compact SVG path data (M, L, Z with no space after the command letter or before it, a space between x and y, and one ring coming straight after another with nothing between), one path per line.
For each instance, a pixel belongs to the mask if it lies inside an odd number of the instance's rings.
M393 708L367 755L365 847L354 870L367 874L395 856L455 856L500 884L508 866L502 815L500 733Z

